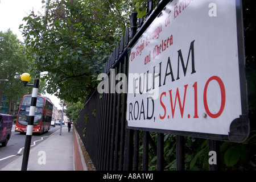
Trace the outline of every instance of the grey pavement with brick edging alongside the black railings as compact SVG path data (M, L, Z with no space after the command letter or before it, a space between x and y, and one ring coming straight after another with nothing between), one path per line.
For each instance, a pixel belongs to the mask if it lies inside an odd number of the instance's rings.
M32 136L33 137L33 136ZM76 129L62 127L61 135L57 130L43 142L30 148L27 171L85 171L84 158L81 156L79 135ZM1 171L20 171L23 155L7 164Z

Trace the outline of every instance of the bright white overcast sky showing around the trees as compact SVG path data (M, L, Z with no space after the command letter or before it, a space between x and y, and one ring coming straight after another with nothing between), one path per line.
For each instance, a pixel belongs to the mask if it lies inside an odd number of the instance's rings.
M22 33L19 30L20 24L25 24L22 19L28 16L32 10L35 14L44 14L42 0L0 0L0 31L7 31L9 28L23 42ZM58 108L60 100L56 96L46 94L47 97Z

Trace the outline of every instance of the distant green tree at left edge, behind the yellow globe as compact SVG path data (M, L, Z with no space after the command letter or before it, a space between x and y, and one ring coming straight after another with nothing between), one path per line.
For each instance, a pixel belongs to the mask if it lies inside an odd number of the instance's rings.
M19 103L24 94L32 92L32 88L25 88L20 80L20 75L28 72L31 64L23 52L22 43L10 29L0 32L0 80L8 79L8 81L0 81L0 101L4 95L5 102L8 102L9 114L11 104ZM39 93L43 92L43 85L42 82ZM0 102L0 106L1 104L2 102Z

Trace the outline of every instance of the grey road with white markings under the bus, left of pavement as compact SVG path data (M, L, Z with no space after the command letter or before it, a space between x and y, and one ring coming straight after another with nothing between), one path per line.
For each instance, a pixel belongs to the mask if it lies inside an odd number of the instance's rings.
M67 125L63 125L62 127L67 127ZM31 148L35 145L42 142L44 139L48 138L51 134L57 132L60 129L60 126L51 127L51 129L42 135L33 134L31 140ZM19 132L15 132L15 125L13 125L13 129L11 132L11 138L7 143L6 147L2 147L0 144L0 169L5 167L6 164L9 164L13 160L15 160L18 155L22 155L24 151L24 144L26 139L26 134L20 134Z

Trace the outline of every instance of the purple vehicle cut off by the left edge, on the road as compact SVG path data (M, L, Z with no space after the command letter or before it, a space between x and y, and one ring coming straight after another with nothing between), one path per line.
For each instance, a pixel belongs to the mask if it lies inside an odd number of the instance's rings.
M5 147L11 138L13 127L13 115L0 114L0 143Z

